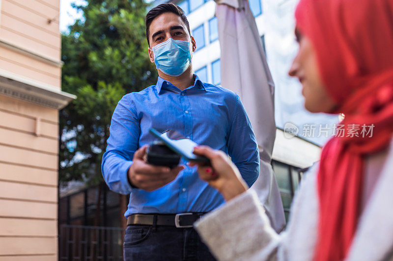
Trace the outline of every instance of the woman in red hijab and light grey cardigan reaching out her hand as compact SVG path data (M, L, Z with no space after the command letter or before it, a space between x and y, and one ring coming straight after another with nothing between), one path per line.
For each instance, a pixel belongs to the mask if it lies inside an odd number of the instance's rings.
M307 110L344 113L345 132L302 181L281 235L227 157L196 148L212 162L200 177L227 201L196 229L218 260L393 260L393 0L300 0L295 16L289 74Z

